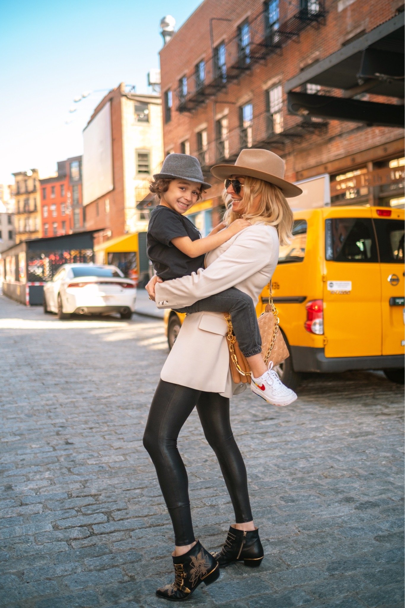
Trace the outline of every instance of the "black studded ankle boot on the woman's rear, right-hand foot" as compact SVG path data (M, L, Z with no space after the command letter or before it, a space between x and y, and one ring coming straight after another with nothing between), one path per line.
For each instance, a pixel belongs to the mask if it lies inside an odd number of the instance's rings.
M226 568L235 562L242 562L245 566L256 568L262 563L264 551L259 538L259 528L256 530L236 530L230 527L225 545L220 551L213 553L218 560L220 568Z

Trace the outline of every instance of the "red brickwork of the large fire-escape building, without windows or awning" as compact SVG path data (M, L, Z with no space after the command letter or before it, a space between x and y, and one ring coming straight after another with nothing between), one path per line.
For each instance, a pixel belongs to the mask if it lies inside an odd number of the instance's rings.
M195 84L196 65L205 60L205 81L213 80L213 47L226 44L226 69L231 74L232 64L237 53L237 29L240 24L250 24L251 47L260 38L259 30L264 29L264 4L259 0L249 3L236 0L205 0L180 27L172 40L160 52L162 73L163 103L163 140L165 152L185 150L182 142L188 140L191 154L199 156L201 136L198 132L206 130L206 171L218 162L218 126L222 116L228 117L228 161L233 162L241 147L240 108L251 103L250 145L267 147L280 154L286 164L286 178L305 179L321 173L345 173L356 167L373 170L387 164L389 159L403 156L403 130L388 127L368 127L355 122L338 120L305 120L292 116L287 111L287 98L284 83L293 78L305 67L332 54L356 36L360 36L379 24L395 16L400 0L326 0L316 2L324 16L301 27L294 33L294 15L299 3L279 0L279 32L292 30L287 42L277 52L261 61L240 70L239 77L229 79L226 86L216 94L197 102L191 111L179 111L182 93L177 93L183 77L187 78L189 94ZM308 2L307 5L311 3ZM211 32L210 32L211 27ZM262 34L263 35L263 34ZM256 37L255 37L256 36ZM259 48L259 47L257 47ZM282 85L282 130L291 137L282 135L266 138L268 120L268 90ZM172 91L171 119L165 121L167 92ZM183 91L184 94L184 91ZM364 97L363 97L364 98ZM372 94L368 100L376 100ZM302 126L301 126L302 125ZM295 131L294 131L295 130ZM200 139L198 139L200 137ZM267 141L266 141L267 139ZM259 145L258 145L259 144ZM223 149L222 149L223 152ZM201 156L201 154L200 154ZM220 160L219 162L224 162ZM376 163L376 165L373 165ZM385 165L384 165L385 166ZM213 180L213 184L216 182ZM222 187L214 185L205 198L213 198L215 207L219 204ZM370 191L372 188L370 188ZM370 192L370 196L372 193Z

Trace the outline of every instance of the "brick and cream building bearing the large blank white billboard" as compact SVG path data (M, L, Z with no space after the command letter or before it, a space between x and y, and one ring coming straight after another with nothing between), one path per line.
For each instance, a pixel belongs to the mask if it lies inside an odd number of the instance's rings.
M124 83L109 91L84 130L86 229L95 244L146 230L148 210L137 209L163 161L160 95L135 94Z

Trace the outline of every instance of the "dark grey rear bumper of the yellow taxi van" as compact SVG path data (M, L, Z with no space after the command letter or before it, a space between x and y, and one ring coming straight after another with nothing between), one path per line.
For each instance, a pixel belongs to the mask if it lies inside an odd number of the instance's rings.
M402 354L378 357L325 357L323 348L290 346L294 371L384 370L404 367Z

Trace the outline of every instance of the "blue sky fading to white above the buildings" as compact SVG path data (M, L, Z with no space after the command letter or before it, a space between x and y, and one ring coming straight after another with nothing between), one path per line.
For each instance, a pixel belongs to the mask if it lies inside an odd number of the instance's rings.
M148 92L160 19L174 16L178 29L200 1L0 0L0 182L31 168L46 177L56 161L81 154L100 89L125 82ZM94 92L73 104L84 91Z

